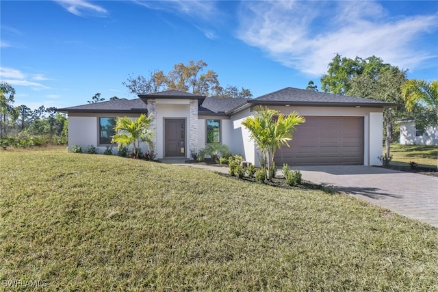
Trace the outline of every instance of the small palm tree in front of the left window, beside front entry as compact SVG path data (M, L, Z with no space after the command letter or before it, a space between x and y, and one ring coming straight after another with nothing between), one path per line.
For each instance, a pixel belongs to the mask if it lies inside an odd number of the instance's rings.
M118 117L114 127L116 134L112 136L112 143L117 143L119 149L132 144L133 155L138 158L138 149L141 142L146 142L149 145L149 150L153 150L153 132L149 129L151 123L152 114L149 116L141 114L136 120L132 120L127 116Z

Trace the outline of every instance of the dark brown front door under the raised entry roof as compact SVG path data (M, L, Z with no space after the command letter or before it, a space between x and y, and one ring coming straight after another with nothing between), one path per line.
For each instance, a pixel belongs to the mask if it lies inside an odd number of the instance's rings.
M164 156L185 156L185 119L164 120Z

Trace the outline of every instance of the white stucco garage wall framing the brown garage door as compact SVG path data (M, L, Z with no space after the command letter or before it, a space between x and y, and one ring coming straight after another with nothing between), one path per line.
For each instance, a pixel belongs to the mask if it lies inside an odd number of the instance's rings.
M297 111L301 116L351 116L363 117L363 163L364 165L381 165L378 156L382 155L383 141L383 109L365 107L285 107L272 106L272 109L281 111L283 114L290 114ZM249 140L249 132L242 127L244 118L249 116L250 111L246 109L231 117L233 121L233 152L244 152L247 161L259 165L259 155L254 150L255 143ZM298 126L299 127L299 126ZM238 137L242 135L242 137Z

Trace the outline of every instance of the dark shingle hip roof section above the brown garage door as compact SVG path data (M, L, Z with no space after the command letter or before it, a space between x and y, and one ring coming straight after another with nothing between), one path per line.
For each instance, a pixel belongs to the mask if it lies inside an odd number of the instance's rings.
M359 98L341 94L316 92L298 88L283 88L276 92L254 98L248 103L254 104L278 104L278 105L313 105L313 106L348 106L360 105L368 107L385 107L394 105L385 101L376 101L371 98Z

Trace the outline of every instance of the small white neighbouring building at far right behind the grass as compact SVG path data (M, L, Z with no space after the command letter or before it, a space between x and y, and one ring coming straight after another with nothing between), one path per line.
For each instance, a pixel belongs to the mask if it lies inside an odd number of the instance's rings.
M400 144L438 145L438 125L417 129L413 120L400 120Z

